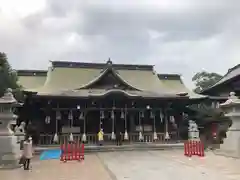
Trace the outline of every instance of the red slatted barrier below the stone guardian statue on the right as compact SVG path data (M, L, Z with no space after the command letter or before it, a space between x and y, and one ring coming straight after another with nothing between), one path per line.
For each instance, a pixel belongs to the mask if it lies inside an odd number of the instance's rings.
M204 144L201 141L186 141L184 143L184 155L188 157L191 157L192 155L203 157L205 155Z

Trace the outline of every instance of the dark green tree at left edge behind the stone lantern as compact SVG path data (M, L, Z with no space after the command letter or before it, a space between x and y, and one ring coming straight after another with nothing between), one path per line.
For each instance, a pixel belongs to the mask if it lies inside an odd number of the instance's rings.
M13 94L20 97L21 91L17 80L17 73L11 68L7 55L0 52L0 97L4 95L7 88L11 88Z

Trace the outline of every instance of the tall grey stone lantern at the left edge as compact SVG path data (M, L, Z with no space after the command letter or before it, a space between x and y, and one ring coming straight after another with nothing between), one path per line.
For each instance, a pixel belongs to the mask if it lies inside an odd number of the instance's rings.
M17 168L21 155L20 144L14 135L12 125L16 124L17 116L13 114L12 108L17 104L12 95L12 90L7 89L0 98L0 169Z

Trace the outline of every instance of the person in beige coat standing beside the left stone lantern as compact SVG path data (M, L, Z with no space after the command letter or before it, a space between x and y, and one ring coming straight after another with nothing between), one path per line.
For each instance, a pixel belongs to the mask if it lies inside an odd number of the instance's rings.
M30 161L33 157L32 138L26 138L23 144L24 170L29 170Z

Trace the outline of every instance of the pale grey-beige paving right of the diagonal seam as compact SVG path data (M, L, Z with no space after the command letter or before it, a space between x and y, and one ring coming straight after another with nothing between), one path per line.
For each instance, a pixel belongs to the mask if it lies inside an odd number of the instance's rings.
M239 180L239 160L207 153L187 158L182 151L113 152L98 155L117 180Z

